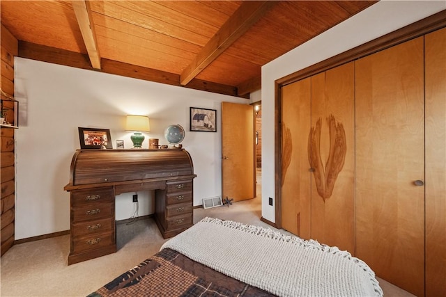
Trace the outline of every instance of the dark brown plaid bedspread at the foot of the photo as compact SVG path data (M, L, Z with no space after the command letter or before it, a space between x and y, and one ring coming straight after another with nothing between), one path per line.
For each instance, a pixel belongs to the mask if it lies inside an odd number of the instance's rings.
M165 248L88 297L274 296Z

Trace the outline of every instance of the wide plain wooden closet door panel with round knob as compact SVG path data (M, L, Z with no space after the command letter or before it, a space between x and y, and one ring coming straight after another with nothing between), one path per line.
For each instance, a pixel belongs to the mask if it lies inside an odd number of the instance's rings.
M423 38L355 62L355 255L424 296Z

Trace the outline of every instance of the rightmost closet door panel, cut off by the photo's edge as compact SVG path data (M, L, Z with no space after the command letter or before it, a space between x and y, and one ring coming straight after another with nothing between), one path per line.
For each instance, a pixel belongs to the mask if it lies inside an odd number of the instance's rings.
M446 28L425 36L426 296L446 296Z

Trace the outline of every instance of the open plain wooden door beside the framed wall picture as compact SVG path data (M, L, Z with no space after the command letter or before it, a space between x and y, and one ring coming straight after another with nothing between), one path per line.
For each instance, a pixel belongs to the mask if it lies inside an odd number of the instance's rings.
M222 199L254 198L254 143L253 106L222 102Z

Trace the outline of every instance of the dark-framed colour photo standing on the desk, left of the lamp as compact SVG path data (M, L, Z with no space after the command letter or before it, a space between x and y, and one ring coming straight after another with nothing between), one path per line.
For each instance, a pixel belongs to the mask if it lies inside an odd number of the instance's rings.
M110 129L78 127L81 149L109 149L112 150L112 136Z

